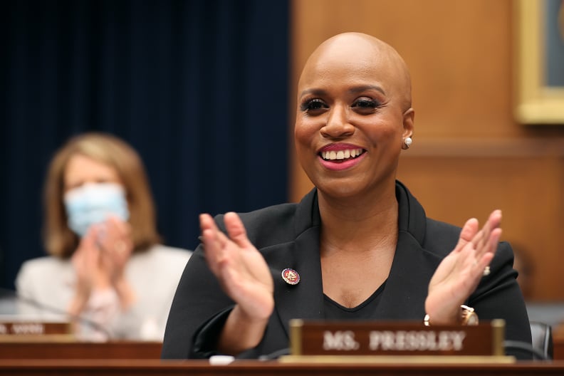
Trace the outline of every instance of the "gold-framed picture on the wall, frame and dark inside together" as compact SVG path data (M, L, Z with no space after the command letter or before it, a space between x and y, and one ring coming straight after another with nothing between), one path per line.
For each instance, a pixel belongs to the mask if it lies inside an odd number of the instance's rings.
M515 4L516 120L564 125L564 0Z

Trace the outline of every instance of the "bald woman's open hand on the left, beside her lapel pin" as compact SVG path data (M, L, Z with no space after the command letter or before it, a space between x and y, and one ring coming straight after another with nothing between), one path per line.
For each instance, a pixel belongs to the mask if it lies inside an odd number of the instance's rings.
M224 292L236 305L218 339L224 354L254 348L260 343L274 309L274 283L263 256L251 244L239 216L226 213L226 236L209 214L200 215L206 261Z

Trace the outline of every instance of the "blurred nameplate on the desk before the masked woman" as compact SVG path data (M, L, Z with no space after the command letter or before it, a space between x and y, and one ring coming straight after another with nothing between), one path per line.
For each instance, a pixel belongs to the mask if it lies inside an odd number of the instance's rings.
M0 342L72 341L71 323L36 320L0 320Z

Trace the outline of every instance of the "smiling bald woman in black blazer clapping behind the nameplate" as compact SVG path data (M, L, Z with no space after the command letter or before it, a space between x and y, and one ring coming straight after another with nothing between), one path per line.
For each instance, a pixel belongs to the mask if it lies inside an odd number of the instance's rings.
M293 318L465 325L475 316L463 304L531 343L501 212L481 227L435 221L396 179L414 110L395 49L362 33L328 39L296 99L296 151L315 188L298 204L200 216L162 357L272 354L288 347Z

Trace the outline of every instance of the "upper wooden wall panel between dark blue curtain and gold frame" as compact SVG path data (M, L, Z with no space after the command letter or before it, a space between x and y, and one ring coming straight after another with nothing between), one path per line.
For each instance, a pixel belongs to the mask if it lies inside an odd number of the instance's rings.
M326 38L369 33L412 73L416 135L518 134L511 110L511 1L294 1L294 71ZM296 74L297 76L297 74Z

